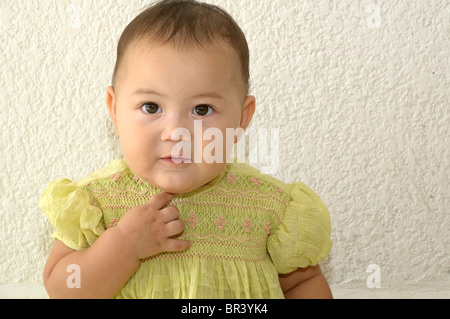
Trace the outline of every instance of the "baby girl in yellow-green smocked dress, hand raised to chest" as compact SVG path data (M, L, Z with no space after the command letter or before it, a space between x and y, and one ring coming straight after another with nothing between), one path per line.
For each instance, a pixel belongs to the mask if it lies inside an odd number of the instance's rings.
M123 159L40 200L51 298L332 297L318 265L330 219L311 189L230 163L226 143L193 160L210 143L192 143L198 121L223 136L248 127L248 91L246 38L222 9L161 1L126 27L106 97Z

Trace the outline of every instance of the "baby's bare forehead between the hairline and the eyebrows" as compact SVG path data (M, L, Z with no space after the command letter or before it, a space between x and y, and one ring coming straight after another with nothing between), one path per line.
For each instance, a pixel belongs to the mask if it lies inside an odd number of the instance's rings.
M239 56L224 42L207 47L177 47L140 42L128 48L123 62L121 80L140 85L184 81L190 83L190 86L245 87Z

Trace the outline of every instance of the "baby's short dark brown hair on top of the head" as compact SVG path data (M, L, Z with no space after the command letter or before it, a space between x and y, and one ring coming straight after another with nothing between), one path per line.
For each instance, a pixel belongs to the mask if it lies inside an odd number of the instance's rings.
M244 83L249 87L249 50L241 28L223 9L195 0L159 1L139 14L125 28L117 47L112 84L127 49L132 44L169 43L178 48L207 47L225 41L238 54Z

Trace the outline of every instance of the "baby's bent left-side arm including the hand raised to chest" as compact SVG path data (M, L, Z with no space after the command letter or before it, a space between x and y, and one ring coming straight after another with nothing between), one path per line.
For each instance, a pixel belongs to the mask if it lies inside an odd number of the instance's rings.
M165 207L172 198L161 193L132 208L89 248L75 251L57 240L44 269L50 298L113 298L139 268L140 259L188 249L189 241L171 238L184 229L176 207ZM79 269L79 288L67 285L72 264Z

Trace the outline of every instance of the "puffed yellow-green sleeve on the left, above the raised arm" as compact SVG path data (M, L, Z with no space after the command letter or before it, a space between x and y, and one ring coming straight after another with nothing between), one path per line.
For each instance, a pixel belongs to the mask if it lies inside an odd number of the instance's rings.
M49 183L39 206L55 228L53 238L74 250L90 247L105 230L101 209L90 204L89 193L70 180Z

